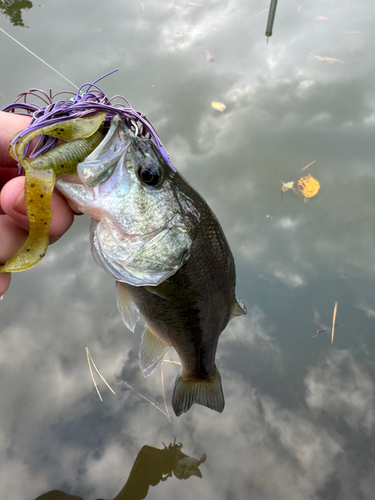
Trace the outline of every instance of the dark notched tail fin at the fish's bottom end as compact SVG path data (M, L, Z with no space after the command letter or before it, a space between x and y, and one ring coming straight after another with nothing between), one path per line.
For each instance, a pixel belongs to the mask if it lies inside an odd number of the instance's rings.
M194 403L219 413L224 410L221 377L216 367L215 373L208 379L186 380L181 373L177 375L172 397L172 406L177 417L187 412Z

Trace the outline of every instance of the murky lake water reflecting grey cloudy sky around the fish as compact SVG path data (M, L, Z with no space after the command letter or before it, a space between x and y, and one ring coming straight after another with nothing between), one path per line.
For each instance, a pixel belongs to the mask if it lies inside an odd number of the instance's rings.
M0 497L112 500L148 446L116 500L144 498L162 460L152 449L176 439L207 455L202 478L173 475L149 499L372 499L375 4L280 1L266 44L268 0L168 1L46 0L22 11L24 27L4 13L0 27L77 86L119 68L101 87L146 113L217 215L248 308L219 341L225 410L169 421L128 389L165 411L160 369L145 379L138 366L142 325L122 323L77 217L0 302ZM0 35L1 106L29 88L74 91ZM315 197L281 200L282 182L309 173ZM331 346L317 331L335 302ZM97 377L103 402L86 347L115 391ZM178 370L163 365L169 412Z

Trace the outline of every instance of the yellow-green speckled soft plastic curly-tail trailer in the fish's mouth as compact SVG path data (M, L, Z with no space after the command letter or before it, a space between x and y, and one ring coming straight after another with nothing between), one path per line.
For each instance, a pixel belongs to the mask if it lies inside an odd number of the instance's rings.
M0 273L25 271L44 257L48 248L52 219L51 196L56 176L74 173L78 163L100 144L104 136L98 129L105 117L106 113L100 113L90 118L74 118L61 124L48 125L26 134L16 144L16 159L25 169L25 204L29 236L18 252L0 269ZM26 145L40 134L71 142L57 146L37 158L26 158Z

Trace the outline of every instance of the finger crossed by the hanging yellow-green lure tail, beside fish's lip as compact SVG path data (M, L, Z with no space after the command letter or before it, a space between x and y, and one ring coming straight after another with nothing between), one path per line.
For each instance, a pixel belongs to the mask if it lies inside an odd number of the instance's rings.
M28 231L29 222L26 215L24 199L25 178L16 177L9 181L0 193L3 211L21 228ZM65 198L54 191L51 199L53 217L50 226L50 243L57 241L72 225L74 214Z

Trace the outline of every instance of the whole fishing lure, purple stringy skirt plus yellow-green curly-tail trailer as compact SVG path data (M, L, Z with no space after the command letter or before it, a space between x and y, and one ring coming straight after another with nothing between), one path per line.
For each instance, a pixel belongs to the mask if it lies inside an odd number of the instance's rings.
M114 70L117 71L117 70ZM56 95L30 89L20 94L15 102L2 111L19 112L32 116L30 125L18 133L9 146L10 155L25 171L25 204L29 220L29 236L25 244L11 257L0 272L19 272L40 262L48 247L48 234L52 219L50 206L56 177L76 172L82 162L100 144L113 116L118 115L134 136L152 139L167 164L168 153L146 116L131 107L122 96L108 99L96 85L107 73L93 83L82 85L76 94L59 92ZM68 100L60 99L69 94ZM27 97L38 97L45 106L29 104ZM55 100L57 98L57 100ZM121 99L125 104L112 101ZM31 141L38 138L31 151ZM66 141L58 145L58 141Z

